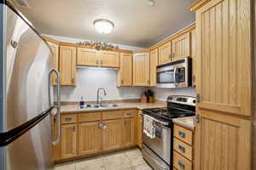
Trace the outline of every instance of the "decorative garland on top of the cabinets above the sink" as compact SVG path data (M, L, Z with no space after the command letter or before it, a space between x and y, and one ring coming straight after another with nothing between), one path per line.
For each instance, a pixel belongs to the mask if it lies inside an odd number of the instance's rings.
M90 46L91 48L96 48L96 49L105 49L105 50L119 49L118 45L114 46L113 44L108 42L83 41L83 42L76 42L76 44Z

